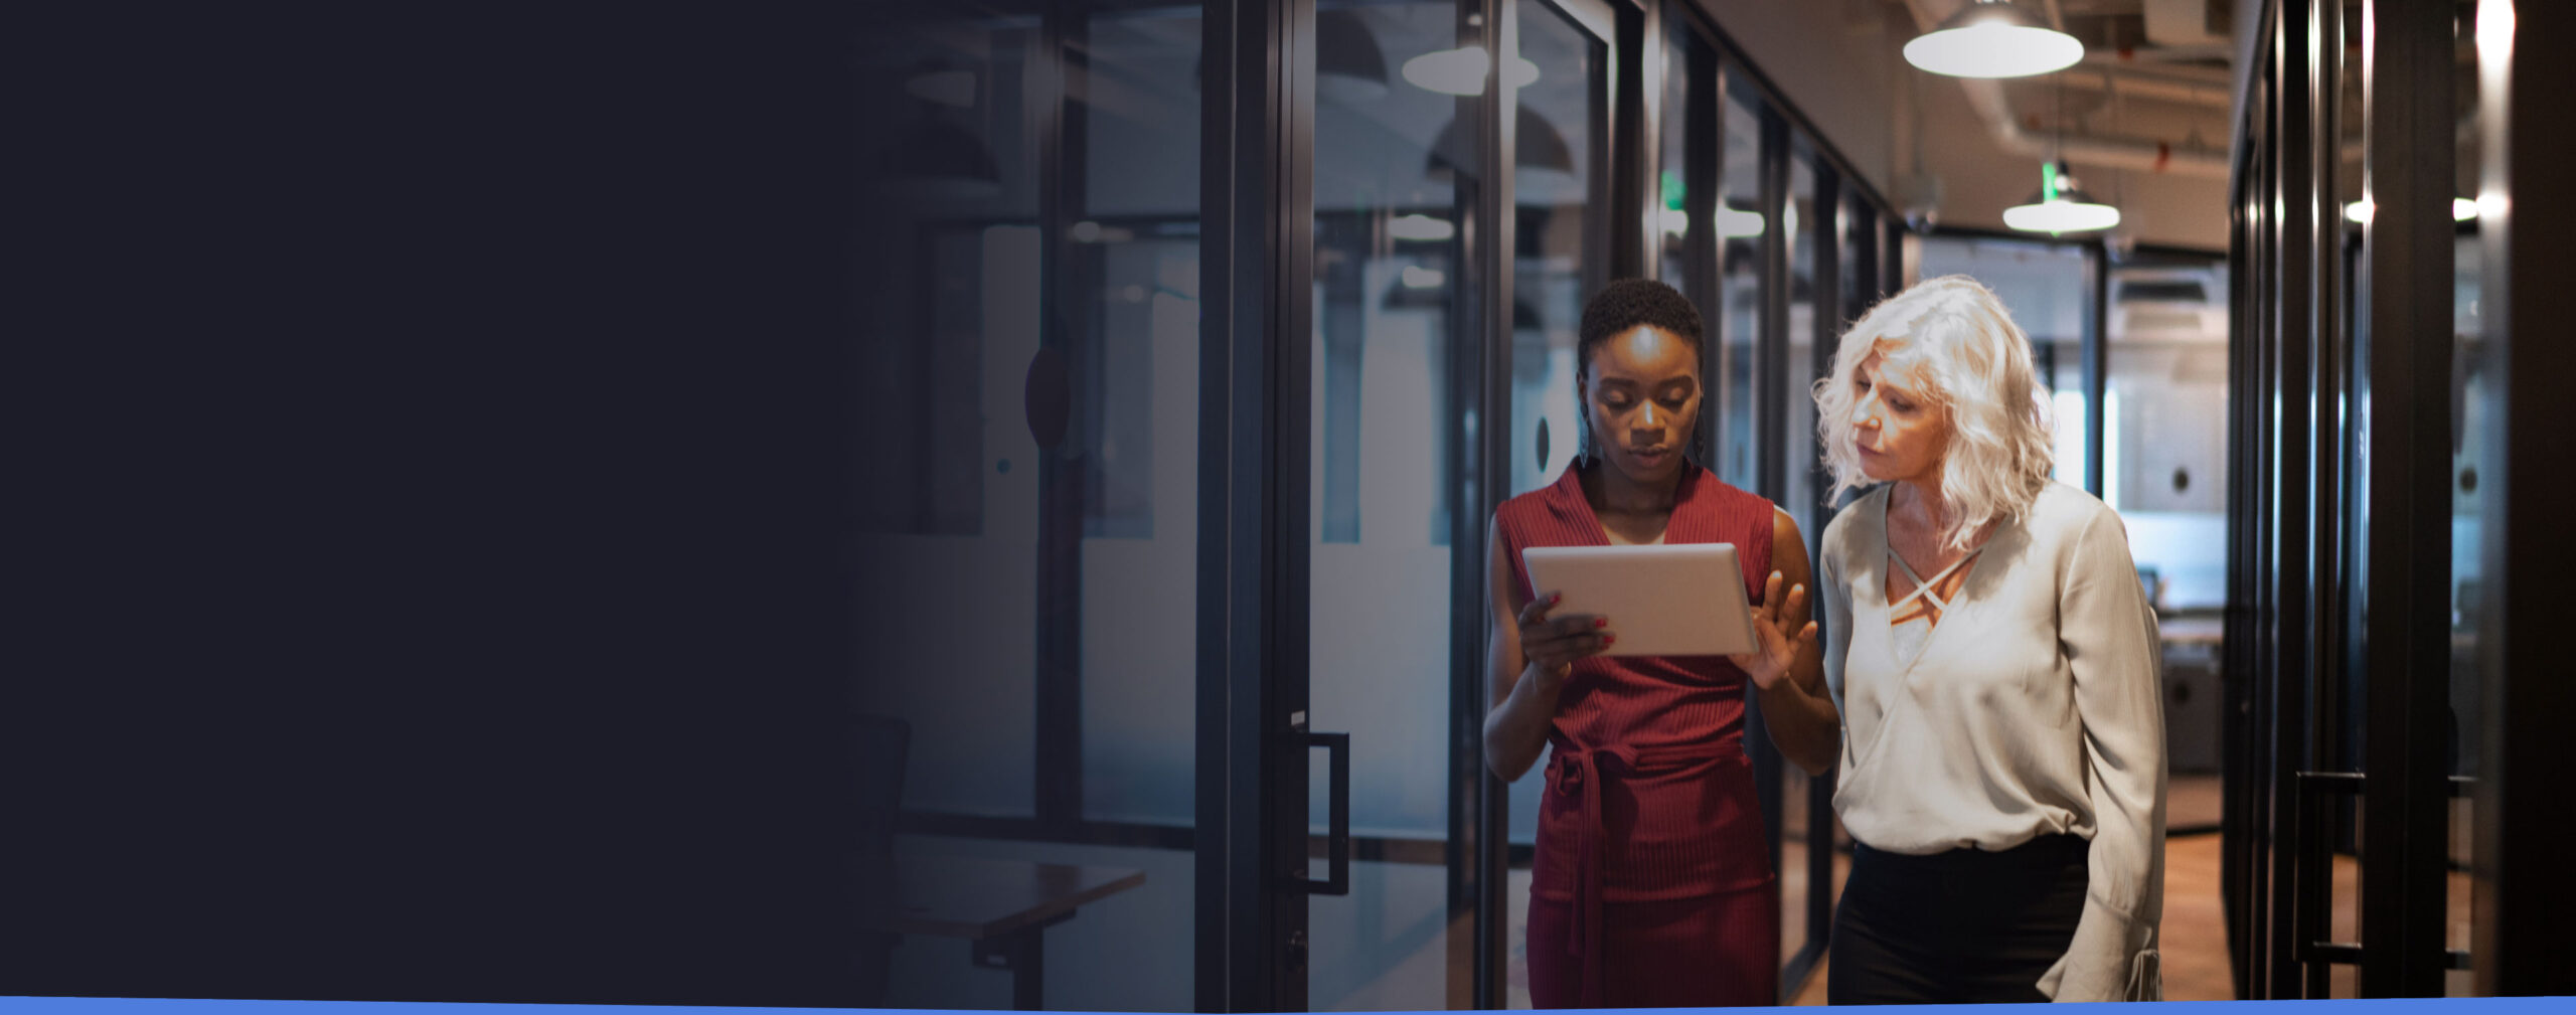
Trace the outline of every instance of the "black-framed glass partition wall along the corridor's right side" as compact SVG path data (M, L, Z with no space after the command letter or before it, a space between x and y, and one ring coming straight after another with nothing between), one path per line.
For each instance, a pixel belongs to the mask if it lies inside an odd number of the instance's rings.
M2571 559L2553 502L2512 482L2548 461L2568 368L2548 296L2568 67L2530 59L2568 23L2527 0L2257 13L2221 281L2239 997L2563 992L2571 696L2543 639L2506 634L2561 623L2543 603ZM2190 448L2130 453L2123 495L2205 528L2197 471L2164 461Z

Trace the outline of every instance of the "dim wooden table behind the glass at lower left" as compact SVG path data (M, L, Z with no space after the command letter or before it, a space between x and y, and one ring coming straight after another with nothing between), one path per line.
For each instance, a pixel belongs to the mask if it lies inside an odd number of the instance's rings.
M974 963L1010 971L1010 1007L1046 1007L1046 927L1144 884L1144 871L953 855L894 858L894 904L876 930L966 938Z

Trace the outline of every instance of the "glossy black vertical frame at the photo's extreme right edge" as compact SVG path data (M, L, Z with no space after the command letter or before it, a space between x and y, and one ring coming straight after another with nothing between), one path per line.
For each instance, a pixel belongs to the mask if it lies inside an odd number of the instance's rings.
M2563 574L2576 564L2576 538L2563 520L2563 484L2545 471L2558 451L2563 397L2550 379L2576 371L2563 340L2568 319L2566 229L2576 201L2561 185L2576 139L2558 113L2576 88L2576 67L2553 46L2576 39L2576 10L2563 3L2486 0L2481 18L2512 13L2512 31L2478 28L2483 180L2478 229L2486 247L2483 291L2488 361L2481 374L2481 580L2478 623L2481 737L2473 788L2476 860L2470 956L2476 992L2576 994L2566 963L2566 909L2576 904L2576 866L2561 855L2558 817L2576 775L2566 752L2566 716L2576 685L2563 680L2566 649L2517 631L2566 626ZM2501 8L2501 10L2499 10ZM2519 54L2535 54L2522 59ZM2517 278L2535 278L2522 286ZM2524 325L2530 322L2530 325ZM2524 335L2530 340L2524 340ZM2530 464L2532 474L2517 466Z

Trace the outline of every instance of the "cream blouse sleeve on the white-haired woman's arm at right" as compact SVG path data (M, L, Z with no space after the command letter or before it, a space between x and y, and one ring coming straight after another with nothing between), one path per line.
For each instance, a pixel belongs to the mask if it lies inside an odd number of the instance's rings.
M2061 1002L2161 1000L2161 647L2120 515L2099 510L2084 523L2058 590L2058 641L2074 670L2094 837L2084 917L2038 987Z

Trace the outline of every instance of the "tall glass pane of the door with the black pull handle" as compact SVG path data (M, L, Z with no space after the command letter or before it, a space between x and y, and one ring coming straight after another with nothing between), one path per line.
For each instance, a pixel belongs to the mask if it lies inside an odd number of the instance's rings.
M1319 67L1455 52L1453 3L1319 13ZM1481 57L1481 49L1476 49ZM1412 75L1412 70L1406 70ZM1394 85L1316 95L1311 392L1311 729L1350 734L1350 832L1427 845L1352 860L1347 896L1311 896L1314 1010L1427 1010L1448 997L1450 350L1461 222L1481 170L1458 98ZM1440 142L1435 142L1440 139ZM1437 162L1437 170L1435 170ZM1481 598L1479 598L1481 603ZM1327 755L1309 757L1327 832ZM1311 866L1324 878L1324 860Z

